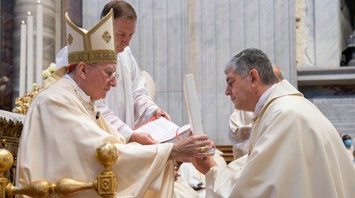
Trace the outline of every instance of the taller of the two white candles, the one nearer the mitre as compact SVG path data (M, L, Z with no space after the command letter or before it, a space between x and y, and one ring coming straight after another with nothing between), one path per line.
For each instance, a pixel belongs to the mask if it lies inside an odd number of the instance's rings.
M36 54L35 62L35 83L37 86L42 84L42 70L43 70L43 5L38 1L37 4L37 37L36 37Z

